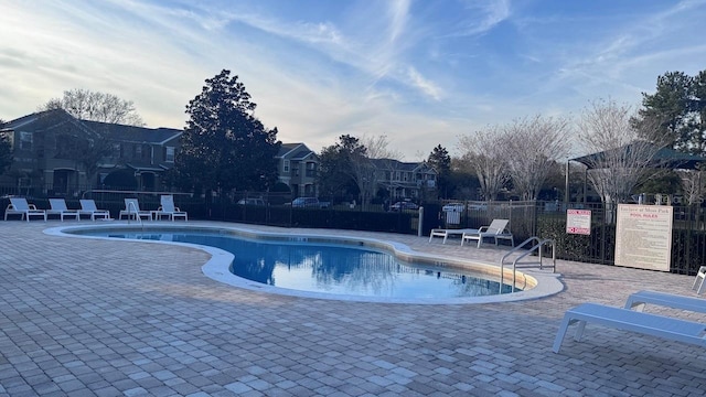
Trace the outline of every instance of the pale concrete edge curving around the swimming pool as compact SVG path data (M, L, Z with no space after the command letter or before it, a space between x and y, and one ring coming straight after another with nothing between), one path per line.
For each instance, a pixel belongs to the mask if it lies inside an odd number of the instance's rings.
M449 262L453 265L463 265L472 268L473 270L479 270L481 272L494 273L498 275L500 269L498 265L482 262L479 260L464 259L453 256L445 256L445 255L430 255L420 251L416 251L410 247L396 242L383 240L383 239L372 239L365 237L356 237L350 235L338 235L338 236L325 236L322 234L304 234L298 233L296 236L291 236L287 233L277 233L277 232L266 232L252 229L243 226L231 226L231 225L194 225L194 224L165 224L165 223L154 223L149 225L138 225L138 224L90 224L90 225L71 225L71 226L57 226L44 229L43 232L47 235L61 236L61 237L77 237L77 238L94 238L94 239L110 239L108 237L96 237L96 236L86 236L79 234L73 234L72 230L109 230L116 229L120 232L125 230L147 230L149 229L169 229L169 230L225 230L227 233L233 233L235 235L242 235L249 238L267 238L267 239L288 239L288 240L306 240L306 242L336 242L336 243L361 243L366 246L377 247L387 249L392 255L396 256L400 259L414 258L418 260L428 261L430 264L434 262ZM345 230L341 230L341 233L345 233ZM130 240L126 240L129 243ZM131 240L135 242L135 240ZM445 298L445 299L405 299L405 298L377 298L377 297L361 297L361 296L344 296L344 294L330 294L322 292L308 292L300 290L291 290L285 289L268 285L258 283L255 281L250 281L240 277L237 277L229 271L229 266L234 259L234 256L231 253L222 250L220 248L202 246L195 244L185 244L185 243L174 243L174 242L161 242L161 240L138 240L138 243L148 243L148 244L167 244L167 245L180 245L186 246L195 249L201 249L207 254L210 254L211 258L202 266L202 272L218 282L226 283L233 287L243 288L252 291L274 293L280 296L290 296L290 297L300 297L300 298L309 298L309 299L325 299L325 300L338 300L338 301L349 301L349 302L376 302L376 303L407 303L407 304L473 304L473 303L496 303L496 302L513 302L513 301L523 301L523 300L532 300L538 298L545 298L553 294L556 294L564 290L564 285L559 280L560 273L553 273L546 270L539 269L523 269L522 273L530 283L535 285L533 288L513 292L505 294L495 294L495 296L486 296L486 297L468 297L468 298ZM507 271L507 270L505 270ZM506 279L507 280L507 279Z

